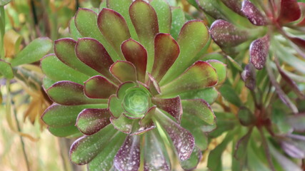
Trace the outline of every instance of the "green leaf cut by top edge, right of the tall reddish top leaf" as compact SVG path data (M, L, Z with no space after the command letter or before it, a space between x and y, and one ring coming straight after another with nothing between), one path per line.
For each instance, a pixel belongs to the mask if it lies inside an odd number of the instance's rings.
M164 0L153 0L150 4L156 11L160 33L169 33L171 30L171 7Z

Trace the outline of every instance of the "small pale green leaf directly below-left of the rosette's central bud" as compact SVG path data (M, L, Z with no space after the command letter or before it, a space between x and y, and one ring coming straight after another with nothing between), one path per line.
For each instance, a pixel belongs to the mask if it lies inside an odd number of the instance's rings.
M123 133L129 134L131 133L132 125L134 123L134 120L131 120L126 117L126 115L120 115L119 118L110 118L110 121L112 125L114 125L114 128L116 130L119 130Z

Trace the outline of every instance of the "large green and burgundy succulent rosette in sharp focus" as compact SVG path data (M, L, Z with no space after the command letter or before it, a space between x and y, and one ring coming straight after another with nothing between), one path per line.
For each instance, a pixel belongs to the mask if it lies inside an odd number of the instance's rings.
M41 60L54 101L42 119L56 136L84 135L71 146L72 162L171 170L169 148L185 170L196 167L215 128L209 103L226 65L199 61L209 31L202 21L171 21L179 16L163 0L109 0L99 14L79 9L69 26L74 39L55 41L55 54Z

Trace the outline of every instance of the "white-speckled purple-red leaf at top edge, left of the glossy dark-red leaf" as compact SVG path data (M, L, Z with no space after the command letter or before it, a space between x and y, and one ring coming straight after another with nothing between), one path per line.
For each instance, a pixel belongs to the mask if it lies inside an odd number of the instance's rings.
M267 24L266 16L261 14L261 11L254 6L249 0L243 1L241 11L249 19L251 24L256 26L264 26Z

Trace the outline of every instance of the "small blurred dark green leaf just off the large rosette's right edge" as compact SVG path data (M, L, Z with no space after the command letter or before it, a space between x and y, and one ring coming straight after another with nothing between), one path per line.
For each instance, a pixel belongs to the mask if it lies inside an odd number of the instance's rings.
M236 91L231 86L225 84L219 88L219 92L226 100L229 101L229 103L232 103L237 107L242 105L239 95L237 95Z

